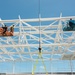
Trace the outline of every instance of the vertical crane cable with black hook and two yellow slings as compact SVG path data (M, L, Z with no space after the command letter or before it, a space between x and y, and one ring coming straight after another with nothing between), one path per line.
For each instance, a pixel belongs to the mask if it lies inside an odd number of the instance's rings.
M38 58L36 59L36 62L35 62L35 64L34 64L34 66L33 66L33 69L32 69L32 75L34 75L34 72L35 72L35 70L36 70L36 66L37 66L37 64L38 64L38 61L39 61L39 58L40 59L42 59L42 64L43 64L43 66L44 66L44 70L45 70L45 72L46 72L46 75L48 75L48 73L47 73L47 70L46 70L46 66L45 66L45 63L44 63L44 60L43 60L43 57L42 57L42 51L41 51L41 21L40 21L40 18L41 18L41 14L40 14L40 0L39 0L39 53L38 53Z

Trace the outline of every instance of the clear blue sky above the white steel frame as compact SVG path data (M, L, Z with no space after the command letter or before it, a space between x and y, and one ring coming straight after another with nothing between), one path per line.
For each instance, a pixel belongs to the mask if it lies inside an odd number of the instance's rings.
M40 9L39 9L39 5L40 5ZM59 17L60 13L62 13L62 16L75 16L75 0L40 0L40 4L39 4L39 0L0 0L0 18L2 20L18 19L19 15L23 19L38 18L39 10L42 18ZM2 64L0 64L0 66ZM43 69L43 66L40 66L40 68ZM7 70L8 69L6 67L4 72L6 72ZM12 70L12 66L11 66L11 70ZM0 72L1 71L2 69L0 68ZM24 70L22 71L26 72ZM29 70L29 72L31 72L31 70Z

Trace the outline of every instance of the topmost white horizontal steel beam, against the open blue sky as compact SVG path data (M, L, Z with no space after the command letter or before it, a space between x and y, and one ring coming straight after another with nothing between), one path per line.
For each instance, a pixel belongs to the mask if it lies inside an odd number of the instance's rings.
M14 23L19 21L24 22L39 22L39 21L52 21L52 20L69 20L70 18L75 19L75 16L69 16L69 17L56 17L56 18L35 18L35 19L13 19L13 20L1 20L0 23Z

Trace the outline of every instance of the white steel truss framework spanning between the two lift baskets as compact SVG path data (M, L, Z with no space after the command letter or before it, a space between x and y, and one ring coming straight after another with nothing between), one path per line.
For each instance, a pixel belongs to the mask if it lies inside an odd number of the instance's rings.
M15 25L14 36L0 36L0 62L35 61L39 52L39 35L44 61L74 60L75 31L63 31L70 18L75 20L75 16L61 15L56 18L21 19L19 16L19 19L0 20L0 25L9 25L8 29Z

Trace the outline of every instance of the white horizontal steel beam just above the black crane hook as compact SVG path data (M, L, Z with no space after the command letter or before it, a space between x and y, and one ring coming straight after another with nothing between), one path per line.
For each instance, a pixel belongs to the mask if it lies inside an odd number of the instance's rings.
M50 46L74 46L75 43L53 43L53 44L41 44L42 47L50 47ZM8 45L0 45L0 48L6 47L39 47L39 44L8 44Z

